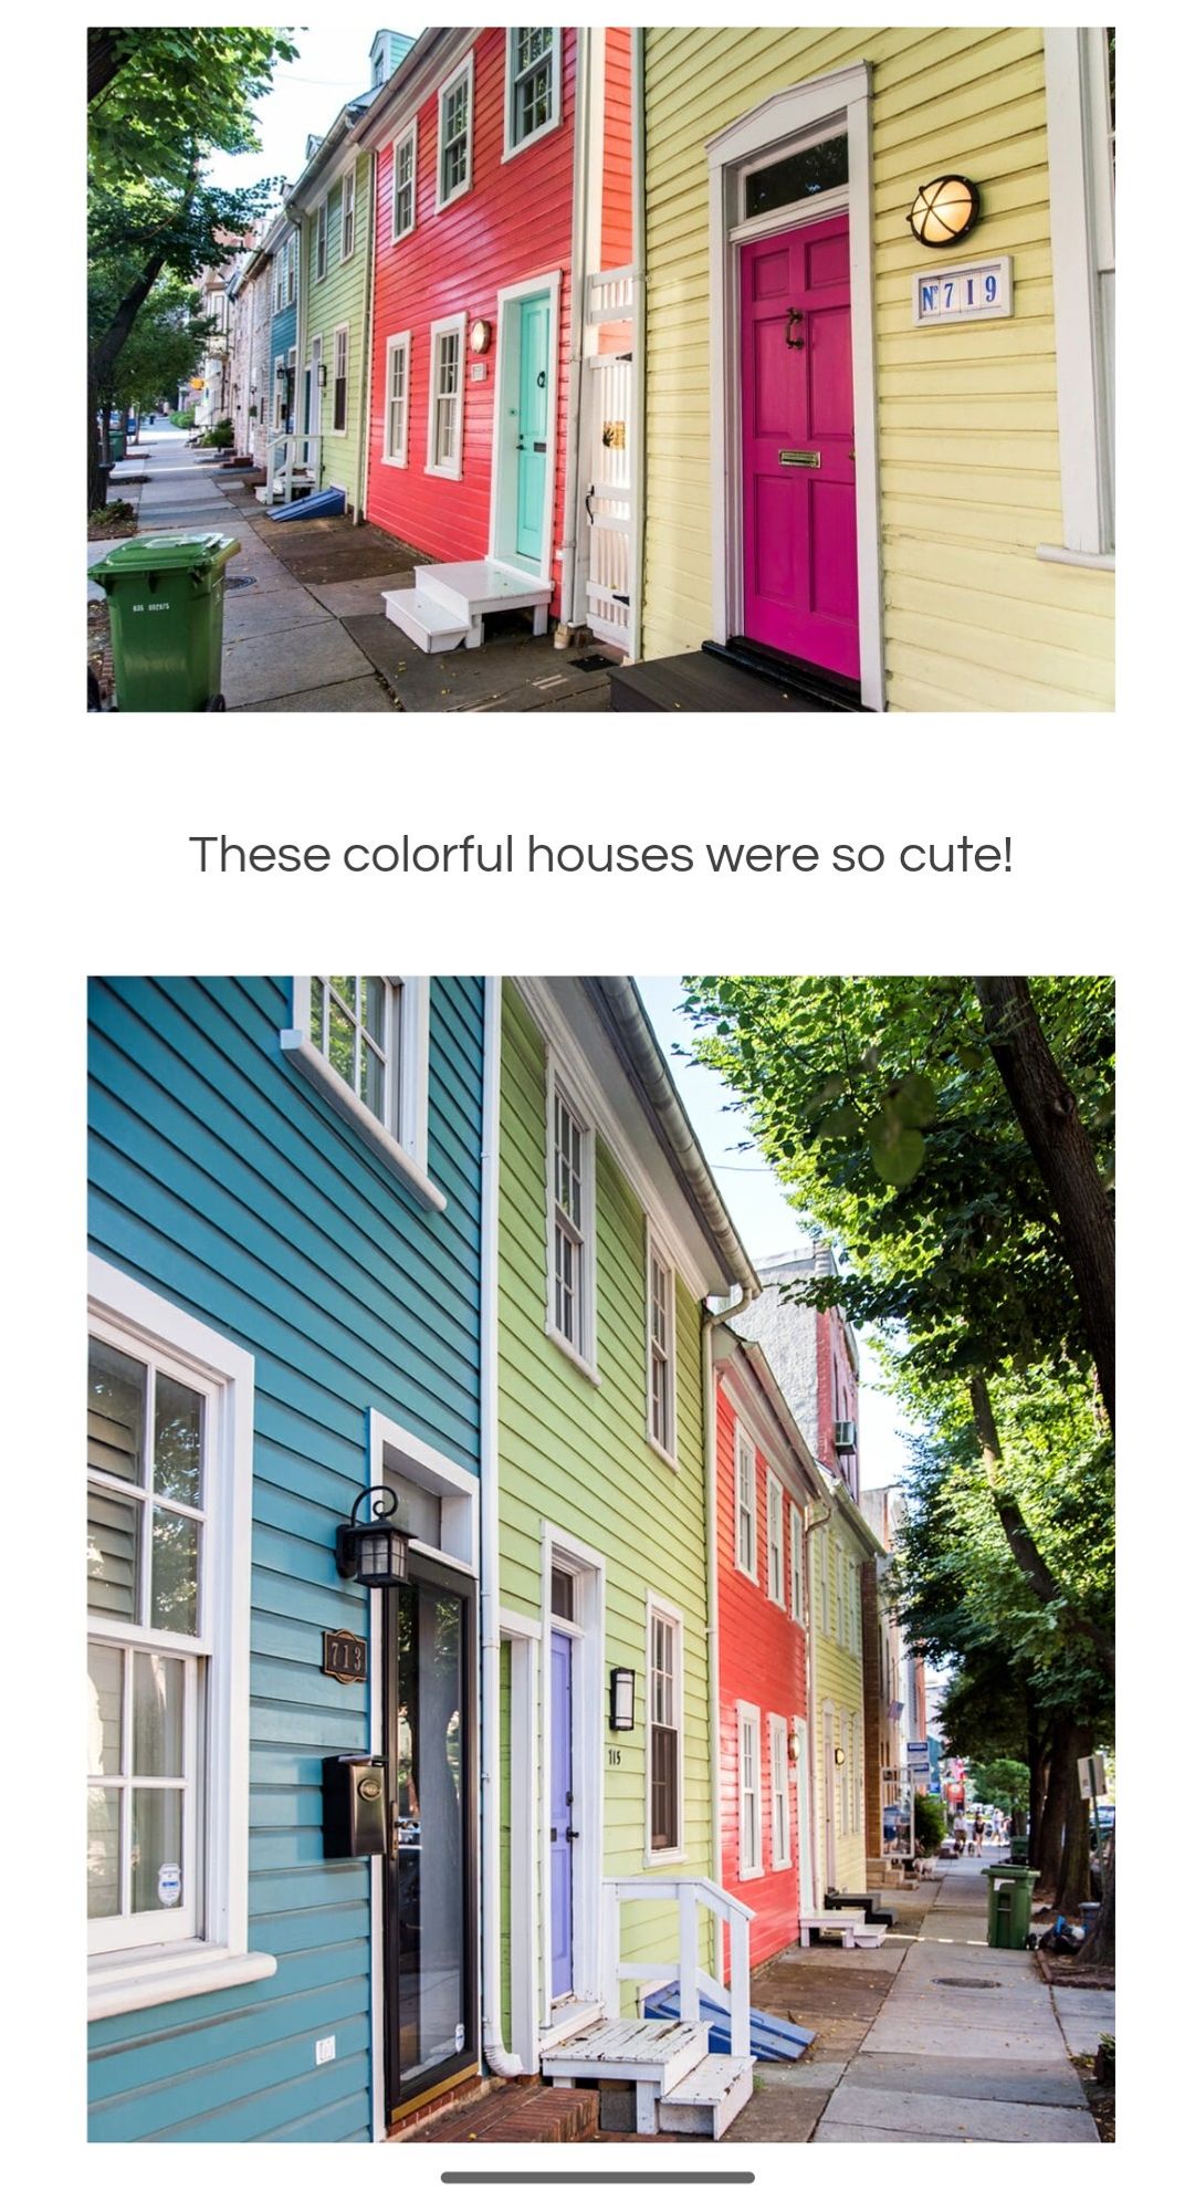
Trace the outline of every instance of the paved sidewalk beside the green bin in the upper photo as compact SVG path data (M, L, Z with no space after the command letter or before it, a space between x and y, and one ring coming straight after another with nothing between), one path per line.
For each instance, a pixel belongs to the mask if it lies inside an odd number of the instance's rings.
M476 653L418 653L387 622L383 591L414 584L423 555L343 518L272 522L250 487L184 431L146 431L113 471L111 495L137 507L137 535L224 531L241 542L224 602L224 697L254 714L604 712L609 675L580 648L522 626ZM146 482L135 482L146 478ZM89 564L106 544L89 546ZM102 597L89 584L89 599Z

